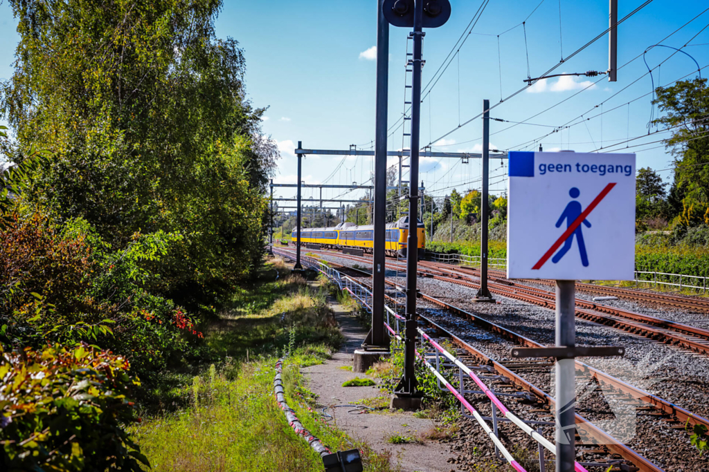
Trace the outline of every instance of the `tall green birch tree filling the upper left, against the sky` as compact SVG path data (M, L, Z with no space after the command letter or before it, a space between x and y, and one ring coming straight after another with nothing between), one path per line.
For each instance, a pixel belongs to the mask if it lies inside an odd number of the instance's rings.
M160 266L176 295L211 298L245 277L277 148L246 98L238 42L216 38L221 2L10 4L20 42L0 112L16 140L1 151L52 153L26 197L114 248L139 231L183 234Z

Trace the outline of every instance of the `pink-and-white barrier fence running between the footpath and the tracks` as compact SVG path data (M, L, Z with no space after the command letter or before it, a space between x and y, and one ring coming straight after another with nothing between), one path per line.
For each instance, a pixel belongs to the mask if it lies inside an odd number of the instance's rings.
M292 253L289 253L288 251L281 251L277 248L274 248L274 253L281 255L285 258L289 258L291 260L294 260L294 255ZM364 306L368 312L371 312L372 310L372 292L369 291L367 287L364 287L362 284L359 284L359 282L356 282L355 280L352 280L350 277L347 277L346 275L342 275L339 271L333 269L333 267L329 267L327 264L320 262L319 260L309 258L307 256L303 257L301 256L301 265L303 267L308 267L310 269L316 270L320 272L321 274L325 275L328 277L328 279L337 284L337 287L340 288L340 290L344 290L352 295L359 303ZM384 323L384 326L386 329L391 333L393 338L396 338L398 340L402 340L401 337L401 327L400 327L400 321L405 321L406 318L404 318L401 315L398 315L395 311L393 311L389 306L384 307L386 309L386 323ZM556 454L556 447L552 442L550 442L548 439L546 439L544 436L541 434L541 430L534 430L530 425L554 425L552 422L543 422L543 421L525 421L521 420L518 416L514 415L506 406L499 400L498 396L511 396L511 397L523 397L527 395L527 393L495 393L491 388L486 386L484 384L484 381L480 378L480 376L476 375L473 372L473 369L480 369L484 370L485 372L489 372L489 369L486 366L479 366L479 367L467 367L460 359L452 355L450 352L445 350L440 344L438 344L435 340L433 340L429 335L425 333L422 329L418 328L418 333L420 334L420 344L422 347L428 343L434 348L433 352L427 352L424 355L421 355L420 353L417 352L417 356L419 359L423 362L423 364L432 372L432 374L436 377L437 379L437 384L438 387L445 391L450 391L456 398L457 400L461 403L461 410L462 410L462 415L464 415L466 418L474 419L476 422L481 425L483 430L486 432L486 434L490 437L492 440L494 446L495 446L495 452L498 454L498 459L504 459L512 466L515 471L518 472L526 472L525 468L520 466L518 462L514 459L512 454L506 449L506 447L502 444L502 442L499 439L499 434L498 434L498 422L500 421L508 421L512 422L516 426L520 427L521 430L523 430L526 434L528 434L532 439L535 440L538 444L538 449L539 449L539 460L540 460L540 471L545 472L545 459L544 459L544 449L547 449L552 452L552 454ZM435 367L431 364L430 361L435 359ZM458 368L458 378L459 378L459 388L455 388L446 378L443 376L442 373L442 367L444 368L451 368L451 367L457 367ZM473 391L473 390L467 390L464 387L464 374L469 376L472 381L480 388L479 391ZM445 386L443 388L441 386ZM477 395L484 395L489 398L491 401L491 408L492 408L492 416L491 417L484 417L482 416L476 408L474 408L466 399L465 395L466 394L477 394ZM471 415L468 415L466 413L466 410L471 413ZM502 418L498 418L498 411L501 413ZM492 428L487 424L487 422L492 423ZM501 454L503 457L500 457ZM588 464L588 465L598 465L598 464ZM606 464L608 465L608 464ZM586 468L584 468L584 465L579 464L578 462L575 463L574 470L576 472L588 472L586 471Z

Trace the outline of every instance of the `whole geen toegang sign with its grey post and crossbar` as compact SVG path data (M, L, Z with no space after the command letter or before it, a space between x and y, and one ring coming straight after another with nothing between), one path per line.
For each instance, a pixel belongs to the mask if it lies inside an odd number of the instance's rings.
M574 285L634 278L635 171L635 154L509 154L507 277L557 281L556 347L512 351L557 358L557 472L574 471L574 357L625 353L576 347Z

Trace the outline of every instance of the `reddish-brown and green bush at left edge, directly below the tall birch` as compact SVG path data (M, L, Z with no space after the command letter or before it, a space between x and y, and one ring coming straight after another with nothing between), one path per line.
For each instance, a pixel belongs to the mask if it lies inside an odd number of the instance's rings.
M83 220L54 226L33 214L15 217L0 237L0 341L8 345L95 343L151 379L201 336L183 309L156 294L150 265L177 236L135 234L111 251Z

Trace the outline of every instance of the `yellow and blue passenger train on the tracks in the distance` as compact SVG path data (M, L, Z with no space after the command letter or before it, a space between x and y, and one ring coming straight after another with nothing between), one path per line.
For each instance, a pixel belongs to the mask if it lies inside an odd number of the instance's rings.
M418 258L424 257L426 252L426 235L423 222L418 220ZM408 217L402 217L394 223L386 224L386 255L406 258L408 240ZM296 229L291 232L291 241L297 244L298 234ZM306 244L319 244L322 248L362 248L365 253L374 251L374 225L357 225L354 223L340 223L330 228L301 228L301 246Z

